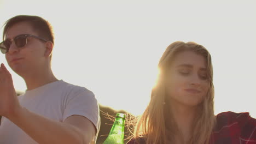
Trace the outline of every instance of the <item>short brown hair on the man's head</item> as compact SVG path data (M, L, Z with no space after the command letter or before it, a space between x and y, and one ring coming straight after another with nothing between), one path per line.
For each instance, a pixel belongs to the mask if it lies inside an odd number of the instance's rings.
M3 40L8 29L19 22L30 23L32 28L38 32L38 36L44 38L45 40L49 40L54 44L53 27L51 27L50 23L44 20L42 17L33 15L17 15L7 20L4 23Z

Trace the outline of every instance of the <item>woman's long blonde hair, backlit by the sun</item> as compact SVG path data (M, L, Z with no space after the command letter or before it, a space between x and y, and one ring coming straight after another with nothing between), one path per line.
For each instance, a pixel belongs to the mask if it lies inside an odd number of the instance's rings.
M168 105L165 89L166 72L167 69L170 68L173 57L183 51L193 51L205 57L209 84L206 97L203 99L202 103L198 105L200 109L198 109L198 115L193 121L193 131L195 131L195 133L191 134L189 143L201 144L210 141L212 129L216 123L213 107L214 86L211 55L202 45L194 42L184 43L182 41L176 41L169 45L159 61L158 68L160 73L158 75L158 81L152 89L151 99L147 109L136 124L133 136L134 139L138 140L138 137L144 137L147 144L166 144L167 139L170 141L174 140L174 135L177 134L178 128L170 113L170 106L166 106ZM168 129L168 136L167 126L171 128Z

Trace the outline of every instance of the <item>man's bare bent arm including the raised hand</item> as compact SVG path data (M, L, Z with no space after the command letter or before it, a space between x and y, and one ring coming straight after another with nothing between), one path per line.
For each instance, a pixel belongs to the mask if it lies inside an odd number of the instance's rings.
M96 128L89 119L69 116L57 122L28 111L19 104L11 74L0 66L0 115L8 118L38 143L90 143Z

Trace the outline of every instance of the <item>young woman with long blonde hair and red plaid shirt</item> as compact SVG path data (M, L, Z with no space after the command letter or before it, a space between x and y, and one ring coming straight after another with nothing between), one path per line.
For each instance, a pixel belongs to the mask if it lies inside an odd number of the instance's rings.
M205 47L176 41L158 67L151 100L128 144L256 143L256 119L248 112L214 116L213 68Z

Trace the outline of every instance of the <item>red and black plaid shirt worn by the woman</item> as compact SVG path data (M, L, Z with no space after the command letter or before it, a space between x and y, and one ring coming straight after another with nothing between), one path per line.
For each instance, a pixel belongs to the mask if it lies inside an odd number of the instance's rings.
M222 112L216 116L216 127L213 129L211 144L255 144L256 119L248 112ZM144 144L144 139L139 140ZM127 144L137 144L132 139Z

